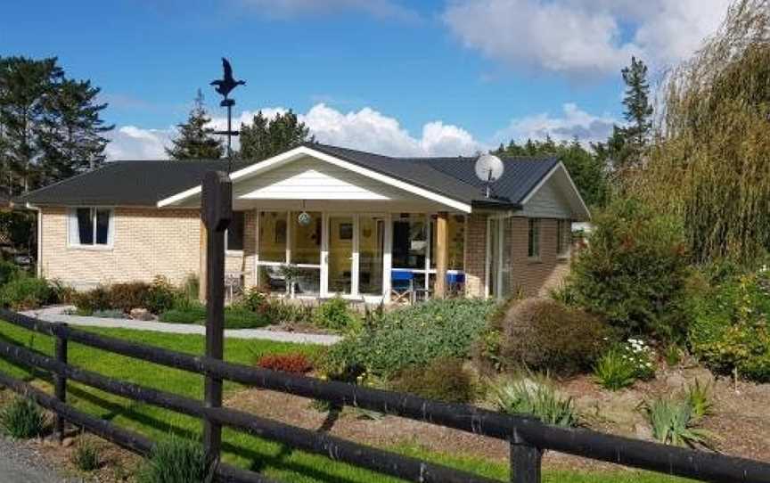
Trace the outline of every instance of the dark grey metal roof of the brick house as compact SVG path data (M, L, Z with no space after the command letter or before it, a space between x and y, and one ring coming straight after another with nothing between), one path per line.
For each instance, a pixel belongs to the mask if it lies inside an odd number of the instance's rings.
M555 158L504 159L503 177L493 185L495 198L485 198L474 172L476 158L394 158L321 143L308 148L437 192L455 201L485 208L516 208L558 164ZM252 162L233 163L233 171ZM40 206L155 206L158 201L201 184L209 169L226 170L223 160L115 161L22 196L18 202Z

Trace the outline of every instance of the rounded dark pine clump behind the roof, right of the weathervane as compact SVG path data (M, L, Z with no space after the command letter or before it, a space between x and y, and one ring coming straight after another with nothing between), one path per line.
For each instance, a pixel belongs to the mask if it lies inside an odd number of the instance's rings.
M241 127L240 157L244 160L266 160L301 143L314 141L310 128L300 122L294 112L279 113L274 119L266 119L260 111L250 125Z

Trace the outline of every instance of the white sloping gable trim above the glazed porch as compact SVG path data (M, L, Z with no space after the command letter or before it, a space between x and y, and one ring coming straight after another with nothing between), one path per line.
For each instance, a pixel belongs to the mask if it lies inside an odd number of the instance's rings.
M309 148L307 146L299 146L297 148L292 149L291 151L286 151L281 154L278 154L277 156L274 156L273 158L270 158L268 160L264 160L256 164L252 164L251 166L248 166L246 168L239 169L238 171L235 171L233 174L230 175L230 179L233 180L234 182L245 177L256 176L259 173L265 172L272 168L277 168L279 166L282 166L283 164L291 162L292 160L297 160L303 156L310 156L315 158L316 160L322 160L322 161L328 162L334 166L348 169L349 171L352 171L359 175L370 177L374 180L380 181L381 183L395 186L399 189L404 190L405 192L411 192L413 194L416 194L417 196L421 196L422 198L426 198L431 201L437 201L438 203L452 207L454 209L459 209L460 211L463 211L465 213L471 213L471 205L468 203L463 203L462 201L453 200L452 198L446 197L442 194L438 194L437 192L431 192L430 190L426 190L424 188L421 188L420 186L415 186L414 184L405 183L404 181L396 179L392 176L383 175L381 173L378 173L377 171L373 171L372 169L358 166L357 164L351 163L346 160L340 160L339 158L335 158L334 156L330 156L324 152L315 151L314 149ZM173 196L169 196L164 200L158 201L158 207L159 208L167 207L175 203L178 203L180 201L184 201L200 193L201 193L201 185L198 185L193 188L190 188L189 190L176 193Z

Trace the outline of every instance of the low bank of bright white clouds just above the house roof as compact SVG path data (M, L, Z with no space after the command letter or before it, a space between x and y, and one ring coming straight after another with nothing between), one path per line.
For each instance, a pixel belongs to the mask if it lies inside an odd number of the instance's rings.
M261 111L264 116L272 118L287 110L272 107ZM242 111L240 116L233 119L233 127L250 123L256 113L257 111ZM436 120L422 127L420 137L414 137L401 127L397 119L368 107L360 111L340 112L319 103L307 113L299 113L298 117L321 143L391 156L456 156L473 154L484 149L484 145L462 127ZM217 117L211 121L211 126L217 129L224 129L226 125L226 118ZM167 156L163 148L168 146L174 135L176 130L173 127L120 127L110 135L111 143L107 145L107 157L109 160L165 159ZM238 148L237 138L234 139L233 147Z

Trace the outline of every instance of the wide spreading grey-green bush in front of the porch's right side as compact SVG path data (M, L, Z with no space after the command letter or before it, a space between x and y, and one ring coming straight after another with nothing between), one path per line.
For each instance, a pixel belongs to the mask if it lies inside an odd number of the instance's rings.
M438 357L467 357L494 307L486 300L446 299L393 310L329 348L321 369L332 379L364 371L389 378Z

